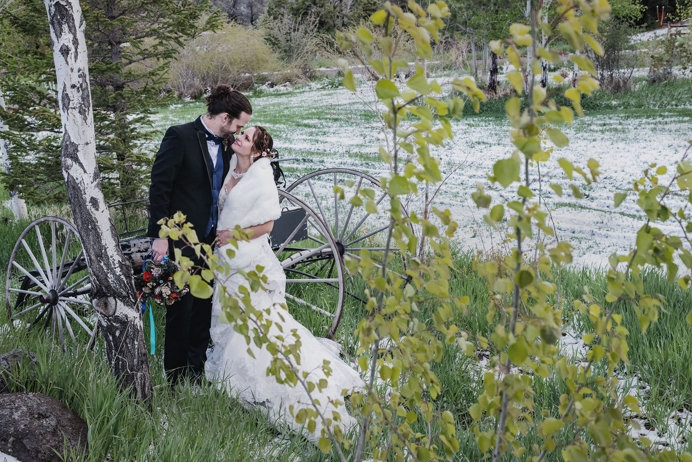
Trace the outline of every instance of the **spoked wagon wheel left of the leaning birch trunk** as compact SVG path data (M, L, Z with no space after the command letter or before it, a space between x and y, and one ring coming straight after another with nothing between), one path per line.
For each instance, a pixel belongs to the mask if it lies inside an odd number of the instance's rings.
M72 322L76 322L91 337L89 346L93 344L96 324L91 328L84 321L91 311L86 296L91 290L89 269L77 229L70 222L59 217L31 222L12 249L5 287L12 326L33 328L44 321L53 339L57 326L64 350L64 330L73 341L80 334L80 329L73 330Z

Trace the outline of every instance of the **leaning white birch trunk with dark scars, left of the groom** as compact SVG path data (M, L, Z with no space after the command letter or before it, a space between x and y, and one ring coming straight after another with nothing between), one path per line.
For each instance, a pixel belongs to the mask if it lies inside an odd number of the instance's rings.
M118 231L101 190L79 0L44 0L51 26L53 59L62 118L62 173L75 225L91 274L91 302L98 313L111 372L121 389L132 387L140 400L152 395L142 316L122 255Z

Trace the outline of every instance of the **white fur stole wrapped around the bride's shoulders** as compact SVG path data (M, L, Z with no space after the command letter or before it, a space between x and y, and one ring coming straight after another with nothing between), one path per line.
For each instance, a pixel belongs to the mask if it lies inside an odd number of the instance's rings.
M224 188L237 165L237 157L230 159L228 175L224 179ZM274 183L274 174L269 159L262 158L255 161L248 171L230 190L224 208L219 210L219 222L217 229L233 229L239 224L241 228L248 228L257 224L263 224L271 220L277 220L281 216L279 206L279 194ZM250 242L238 242L238 248L227 244L220 248L221 255L228 261L233 269L244 268L250 265L252 260L260 254L262 240L258 237ZM235 257L229 259L226 249L233 249Z

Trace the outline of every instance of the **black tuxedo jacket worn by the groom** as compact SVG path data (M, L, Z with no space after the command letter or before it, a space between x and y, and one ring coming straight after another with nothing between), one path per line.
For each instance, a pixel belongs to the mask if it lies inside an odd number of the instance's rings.
M233 139L231 136L230 142ZM230 153L230 145L225 151L221 148L224 178L228 173ZM187 215L187 221L194 225L200 241L205 238L201 235L209 223L213 168L200 117L194 122L168 127L152 166L147 229L149 238L158 238L161 225L156 222L163 217L172 217L176 211ZM214 231L216 229L212 229L212 233ZM177 241L177 244L176 247L182 247L181 241ZM193 253L192 249L186 250L188 252L183 251L183 254Z

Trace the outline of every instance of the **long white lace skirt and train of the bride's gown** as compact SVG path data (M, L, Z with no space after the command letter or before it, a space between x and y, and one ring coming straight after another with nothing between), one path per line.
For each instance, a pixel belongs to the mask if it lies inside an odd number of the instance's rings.
M222 195L223 192L225 192L225 188L222 190ZM219 197L219 206L223 206L222 201L224 199L226 197ZM250 271L254 270L256 265L263 266L263 274L267 276L268 283L266 284L266 292L251 292L253 306L257 309L266 310L268 308L270 310L268 315L265 314L274 321L270 336L282 333L275 327L276 323L281 324L284 337L289 337L292 329L298 332L302 344L300 348L300 366L298 366L300 371L309 372L307 380L311 382L316 383L321 378L327 378L329 383L322 391L314 389L311 395L313 399L319 400L320 408L325 417L332 418L332 411L338 412L342 421L341 428L344 432L347 432L356 425L356 420L349 416L344 405L339 405L335 408L333 405L328 404L328 400L331 398L331 400L343 401L341 396L343 389L362 389L364 382L353 368L340 359L338 356L338 344L328 339L314 337L307 328L293 319L291 314L279 305L286 302L284 298L286 276L281 264L271 250L268 239L264 236L257 239L264 241L262 242L260 254L245 268ZM227 258L225 254L224 247L217 250L217 255L221 260ZM247 287L247 282L242 275L234 274L226 280L225 285L227 292L233 294L237 293L239 285ZM248 344L246 344L245 337L235 332L232 324L219 321L221 307L217 294L218 287L219 284L217 283L213 295L210 329L214 348L208 354L205 364L206 376L209 380L217 382L219 387L225 387L228 393L237 396L239 400L244 402L244 405L258 405L266 409L275 427L281 428L284 423L287 423L293 429L302 431L311 441L316 442L320 438L320 430L322 429L320 419L317 419L318 425L315 432L309 434L307 429L296 423L289 413L289 406L291 405L293 405L294 414L303 407L311 408L307 393L300 384L290 387L285 384L279 384L273 376L266 375L267 367L272 359L272 355L266 350L266 347L257 348L251 342L249 348L253 351L255 356L253 358L247 353ZM286 333L289 333L289 335L286 335ZM321 368L325 359L330 362L331 375L329 377L325 377Z

